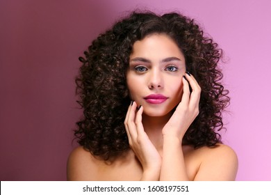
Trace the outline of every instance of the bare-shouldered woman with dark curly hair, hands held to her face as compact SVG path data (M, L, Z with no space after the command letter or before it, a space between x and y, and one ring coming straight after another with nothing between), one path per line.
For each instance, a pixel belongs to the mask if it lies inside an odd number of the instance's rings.
M222 53L193 20L134 12L84 54L67 180L235 179L236 153L217 133Z

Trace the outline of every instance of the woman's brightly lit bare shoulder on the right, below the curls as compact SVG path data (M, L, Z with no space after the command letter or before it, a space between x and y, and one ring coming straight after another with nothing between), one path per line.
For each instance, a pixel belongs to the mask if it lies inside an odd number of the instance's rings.
M235 180L238 171L238 157L227 145L197 149L201 164L195 180Z

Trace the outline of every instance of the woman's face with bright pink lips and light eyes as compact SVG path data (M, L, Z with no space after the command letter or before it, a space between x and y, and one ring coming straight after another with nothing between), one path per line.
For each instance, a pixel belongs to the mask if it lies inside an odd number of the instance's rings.
M133 45L126 72L130 98L147 116L165 116L181 101L185 58L165 34L153 34Z

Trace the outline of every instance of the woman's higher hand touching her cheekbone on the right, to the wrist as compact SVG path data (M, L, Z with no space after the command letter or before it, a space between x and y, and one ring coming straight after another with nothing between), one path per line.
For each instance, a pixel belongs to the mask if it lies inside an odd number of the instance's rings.
M192 88L191 93L189 84ZM165 127L163 127L163 137L178 137L182 141L188 127L199 114L201 91L196 79L186 73L186 77L183 77L183 96L181 102L176 107L174 114L172 114Z

